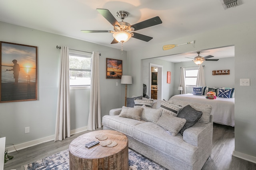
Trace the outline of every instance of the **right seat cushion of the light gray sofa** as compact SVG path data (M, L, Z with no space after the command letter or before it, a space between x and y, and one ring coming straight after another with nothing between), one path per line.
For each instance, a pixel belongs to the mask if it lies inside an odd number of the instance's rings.
M166 130L152 122L134 126L132 137L145 145L168 154L186 164L195 164L198 147L183 141L180 133L170 135Z

